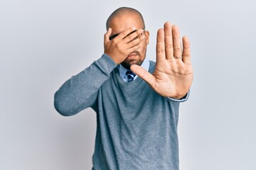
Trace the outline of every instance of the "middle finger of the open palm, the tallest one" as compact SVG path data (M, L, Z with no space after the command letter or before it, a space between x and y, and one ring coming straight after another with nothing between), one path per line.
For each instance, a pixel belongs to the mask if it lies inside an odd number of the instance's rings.
M164 23L164 43L166 51L166 59L172 59L174 57L174 45L172 26L170 22Z

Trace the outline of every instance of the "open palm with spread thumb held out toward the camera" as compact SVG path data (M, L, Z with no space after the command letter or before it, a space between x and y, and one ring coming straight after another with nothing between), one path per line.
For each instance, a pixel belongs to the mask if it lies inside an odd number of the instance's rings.
M139 65L132 72L144 79L161 96L181 98L186 95L193 80L191 50L186 36L181 38L178 26L170 22L159 29L156 42L156 69L150 74Z

